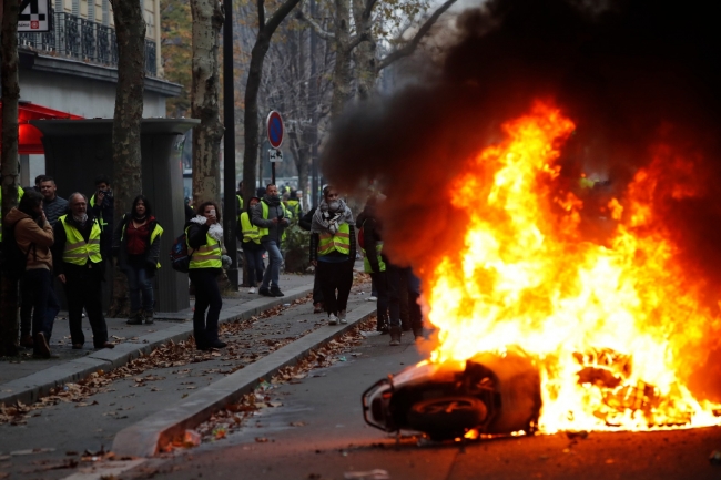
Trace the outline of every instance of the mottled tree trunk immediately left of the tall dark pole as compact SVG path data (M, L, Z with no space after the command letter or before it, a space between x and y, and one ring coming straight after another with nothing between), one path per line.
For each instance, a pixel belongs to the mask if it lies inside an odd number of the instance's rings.
M201 124L193 129L193 204L221 200L220 115L221 75L219 49L223 4L217 0L191 0L193 13L193 85L191 109ZM231 194L232 192L229 192ZM232 212L227 212L232 214Z

